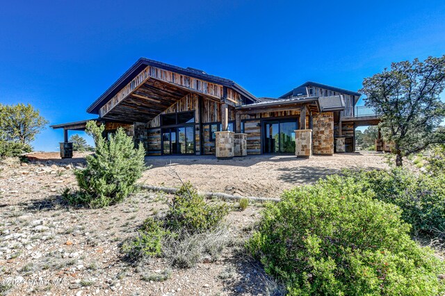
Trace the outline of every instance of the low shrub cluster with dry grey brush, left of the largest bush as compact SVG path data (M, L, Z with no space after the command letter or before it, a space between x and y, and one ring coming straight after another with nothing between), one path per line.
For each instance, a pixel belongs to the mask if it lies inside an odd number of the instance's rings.
M160 256L171 265L191 268L210 256L215 259L229 243L229 229L221 225L227 206L207 204L190 183L181 186L163 220L149 217L138 236L125 242L127 258Z

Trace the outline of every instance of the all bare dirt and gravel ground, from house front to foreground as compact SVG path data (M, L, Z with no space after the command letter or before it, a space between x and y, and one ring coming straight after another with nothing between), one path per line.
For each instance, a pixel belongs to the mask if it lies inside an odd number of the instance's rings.
M60 193L76 186L73 169L84 164L82 155L75 157L40 154L31 164L0 162L0 295L6 290L8 295L267 295L275 285L240 247L259 219L261 204L245 211L231 204L225 223L234 244L216 260L191 269L172 268L163 258L139 265L124 261L122 242L135 236L148 216L164 215L171 196L141 191L108 208L67 206ZM264 197L343 167L386 167L375 154L146 161L152 168L141 183L177 186L178 175L202 191ZM164 272L170 274L165 281L151 280Z

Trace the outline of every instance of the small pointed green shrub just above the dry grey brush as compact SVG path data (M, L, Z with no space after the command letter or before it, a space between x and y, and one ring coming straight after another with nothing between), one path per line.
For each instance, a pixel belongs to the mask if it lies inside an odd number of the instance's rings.
M172 230L202 232L216 227L227 213L229 207L226 204L209 204L197 194L191 183L184 183L170 204L167 226Z

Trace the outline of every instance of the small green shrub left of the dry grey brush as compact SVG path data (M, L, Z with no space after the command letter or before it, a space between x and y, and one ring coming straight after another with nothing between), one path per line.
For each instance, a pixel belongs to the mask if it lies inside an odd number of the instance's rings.
M161 241L168 234L162 228L162 224L161 221L148 217L144 221L143 227L138 230L138 236L124 242L122 251L132 260L146 256L160 256L162 253Z

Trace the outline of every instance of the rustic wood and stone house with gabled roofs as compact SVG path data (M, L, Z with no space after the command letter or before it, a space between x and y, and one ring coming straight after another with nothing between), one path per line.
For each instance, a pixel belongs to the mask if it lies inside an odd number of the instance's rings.
M355 106L360 96L308 81L281 97L259 98L200 69L140 58L87 112L99 115L107 133L122 126L147 156L309 157L355 151L355 127L378 122L373 110ZM86 122L51 127L64 129L66 143L67 131Z

